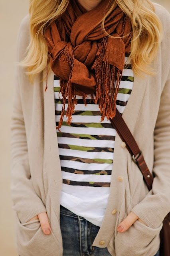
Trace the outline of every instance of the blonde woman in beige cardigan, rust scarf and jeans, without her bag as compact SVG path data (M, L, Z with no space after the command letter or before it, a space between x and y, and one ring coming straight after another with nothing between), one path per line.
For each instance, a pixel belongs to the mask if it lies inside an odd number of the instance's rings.
M169 24L149 0L30 1L11 121L20 256L159 255L170 211ZM154 176L150 192L111 125L116 107Z

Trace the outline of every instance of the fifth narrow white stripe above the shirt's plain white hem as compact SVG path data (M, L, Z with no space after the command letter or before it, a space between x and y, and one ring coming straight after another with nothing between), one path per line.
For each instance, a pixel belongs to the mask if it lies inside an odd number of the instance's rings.
M61 132L75 133L75 134L109 135L109 136L116 135L116 130L114 128L79 127L79 130L77 132L77 127L63 125L59 129L61 130Z

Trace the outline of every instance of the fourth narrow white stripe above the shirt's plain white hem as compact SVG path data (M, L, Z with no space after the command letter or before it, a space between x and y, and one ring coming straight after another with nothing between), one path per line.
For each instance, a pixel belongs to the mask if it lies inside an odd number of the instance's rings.
M83 147L100 147L100 148L114 148L114 140L88 140L79 138L58 137L58 143L67 145L76 145Z

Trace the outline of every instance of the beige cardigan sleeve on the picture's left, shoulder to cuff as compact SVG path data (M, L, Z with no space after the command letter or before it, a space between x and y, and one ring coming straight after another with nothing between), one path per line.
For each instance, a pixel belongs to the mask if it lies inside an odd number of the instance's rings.
M25 27L26 18L28 17L25 17L20 24L16 42L17 62L20 61L21 56L23 55L20 49L26 49L27 46L27 29ZM12 99L12 116L10 120L10 190L12 196L12 208L18 213L18 218L22 223L27 222L40 212L46 212L46 209L41 198L34 190L30 174L26 129L19 90L19 74L21 74L22 69L20 71L18 71L18 69L20 69L20 67L16 66Z

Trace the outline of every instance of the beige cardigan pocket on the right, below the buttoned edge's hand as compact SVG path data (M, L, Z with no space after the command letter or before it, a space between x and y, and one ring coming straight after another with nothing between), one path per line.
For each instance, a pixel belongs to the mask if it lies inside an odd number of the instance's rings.
M150 228L136 220L127 231L117 232L115 236L116 255L153 256L159 249L161 228L162 223L158 228Z

